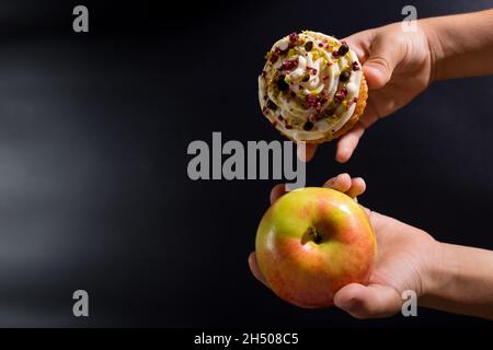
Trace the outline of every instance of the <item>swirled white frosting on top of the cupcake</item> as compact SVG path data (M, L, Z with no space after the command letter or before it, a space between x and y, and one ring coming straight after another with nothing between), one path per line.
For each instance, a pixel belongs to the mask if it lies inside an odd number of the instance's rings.
M312 42L312 49L307 51L305 44ZM321 43L323 46L320 46ZM274 63L268 59L264 67L263 74L259 78L259 100L265 116L276 125L283 133L296 141L309 141L323 138L328 131L332 133L340 130L344 124L353 116L358 97L363 70L353 70L353 62L359 61L356 55L349 49L344 56L333 56L332 51L337 51L342 45L337 39L321 33L303 32L299 34L296 46L287 51L289 37L284 37L274 44L271 55L279 56ZM330 45L330 47L326 47ZM276 52L277 48L277 54ZM283 52L278 52L278 51ZM283 62L298 60L290 69L283 69ZM340 74L343 71L351 73L348 81L340 82ZM307 71L309 72L307 80ZM279 74L286 77L289 90L279 93L276 86L276 79ZM345 89L347 95L344 102L334 104L337 91ZM293 97L296 94L296 98ZM323 96L326 103L320 110L307 107L303 103L307 96ZM271 100L277 106L275 110L267 107ZM331 102L333 102L331 104ZM339 104L339 105L337 105ZM326 114L326 109L334 108L332 115ZM324 113L325 112L325 113ZM313 117L313 116L318 117ZM282 119L279 118L282 116ZM303 129L305 122L313 122L311 130ZM290 128L286 126L286 120Z

